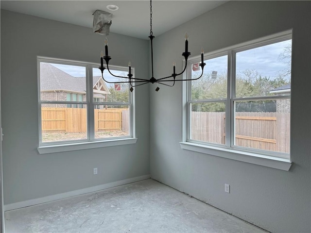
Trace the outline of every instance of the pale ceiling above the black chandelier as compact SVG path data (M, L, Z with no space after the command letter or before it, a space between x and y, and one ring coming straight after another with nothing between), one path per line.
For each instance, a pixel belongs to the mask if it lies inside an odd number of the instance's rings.
M225 2L227 0L154 0L153 34L165 33ZM119 10L108 10L109 4L119 6ZM88 28L93 27L92 14L101 10L113 14L110 32L142 39L150 35L149 0L1 0L0 8Z

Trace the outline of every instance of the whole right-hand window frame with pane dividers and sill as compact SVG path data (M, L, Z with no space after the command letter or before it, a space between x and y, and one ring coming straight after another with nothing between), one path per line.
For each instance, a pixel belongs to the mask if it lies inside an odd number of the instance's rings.
M236 53L244 50L250 50L273 43L293 40L292 30L288 30L274 35L262 37L256 40L245 42L239 45L231 46L222 50L213 51L205 54L204 60L212 59L227 55L227 97L225 99L211 99L211 100L192 100L191 99L191 81L183 83L183 137L180 146L185 150L192 150L201 153L206 153L214 156L220 156L228 159L238 160L242 162L257 164L261 166L268 166L282 170L289 170L292 162L290 160L290 153L282 153L277 151L266 151L259 149L248 149L241 146L234 145L234 120L235 108L234 102L239 100L276 100L290 98L287 96L272 96L272 97L249 97L236 98L235 97L235 67L236 67ZM293 42L292 42L293 43ZM200 58L195 57L188 61L188 67L193 63L199 63ZM191 69L184 78L191 77ZM225 144L215 144L203 141L190 139L190 105L191 103L200 102L225 102Z

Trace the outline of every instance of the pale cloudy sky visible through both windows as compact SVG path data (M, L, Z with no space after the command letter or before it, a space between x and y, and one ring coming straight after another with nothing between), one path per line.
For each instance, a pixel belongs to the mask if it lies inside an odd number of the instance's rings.
M279 60L278 56L283 52L284 47L290 44L291 40L288 40L238 52L236 55L236 74L239 75L239 73L245 69L255 69L262 77L270 77L270 79L273 80L279 70L286 68L285 60ZM204 68L204 73L211 73L212 71L225 73L227 70L226 56L206 60L205 62L207 65ZM52 65L74 77L86 76L85 67L61 64ZM112 73L115 75L126 75L127 71L124 73L124 71L113 70ZM98 68L93 68L93 75L101 76L101 71ZM110 82L118 80L111 76L107 70L104 70L104 78Z

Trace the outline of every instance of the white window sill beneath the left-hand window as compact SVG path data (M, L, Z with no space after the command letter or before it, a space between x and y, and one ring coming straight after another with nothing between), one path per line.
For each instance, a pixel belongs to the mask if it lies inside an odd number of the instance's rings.
M86 150L101 147L114 147L128 144L135 144L137 138L122 138L106 141L93 141L93 142L82 142L82 143L70 143L62 145L51 145L51 146L41 146L37 148L40 154L57 153L72 150Z

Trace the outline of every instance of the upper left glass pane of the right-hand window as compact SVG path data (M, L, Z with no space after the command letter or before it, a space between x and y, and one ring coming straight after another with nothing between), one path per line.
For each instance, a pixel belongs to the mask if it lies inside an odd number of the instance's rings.
M204 61L203 76L191 81L192 100L222 99L227 97L227 56L216 57ZM191 78L201 75L201 67L191 64ZM200 69L197 70L197 67Z

